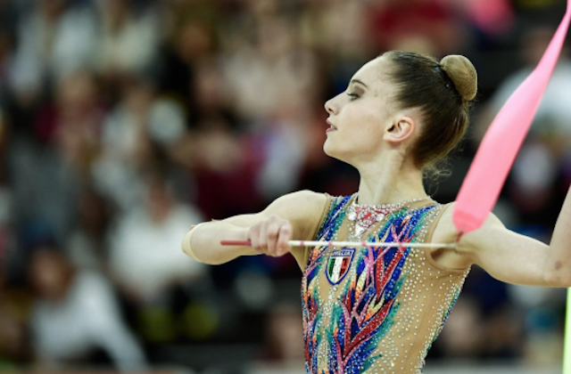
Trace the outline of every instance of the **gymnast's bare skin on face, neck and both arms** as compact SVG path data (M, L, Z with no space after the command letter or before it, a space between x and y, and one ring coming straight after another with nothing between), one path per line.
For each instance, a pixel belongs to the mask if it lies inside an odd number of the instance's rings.
M392 62L385 57L365 64L347 90L326 102L327 155L360 173L359 203L385 204L426 197L422 173L410 158L410 146L423 126L417 109L393 102L395 86L388 79ZM382 166L382 167L381 167ZM325 195L298 191L276 199L261 213L238 215L203 224L183 240L189 256L222 264L237 256L283 256L287 240L306 238L319 224ZM434 243L452 243L459 232L452 222L453 204L435 227ZM571 199L566 199L545 245L509 231L490 214L483 226L461 236L456 248L434 248L434 260L447 269L478 264L492 277L515 284L571 287ZM252 240L252 247L223 247L219 240ZM192 240L192 242L191 242ZM190 249L192 247L192 250ZM292 251L294 256L297 256ZM299 258L298 258L299 261Z

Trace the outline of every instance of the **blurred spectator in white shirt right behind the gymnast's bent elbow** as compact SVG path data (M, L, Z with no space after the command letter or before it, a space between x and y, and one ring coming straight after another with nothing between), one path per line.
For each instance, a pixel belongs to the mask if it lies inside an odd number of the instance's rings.
M178 202L159 173L145 178L143 204L121 214L110 236L110 266L121 293L137 305L161 304L170 290L203 276L180 251L177 234L202 215Z

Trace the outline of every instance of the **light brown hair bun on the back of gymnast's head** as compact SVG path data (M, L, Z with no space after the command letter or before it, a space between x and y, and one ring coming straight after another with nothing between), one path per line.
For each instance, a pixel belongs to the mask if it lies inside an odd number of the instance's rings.
M476 97L476 68L468 58L459 54L451 54L440 61L440 66L451 78L462 100L469 102Z

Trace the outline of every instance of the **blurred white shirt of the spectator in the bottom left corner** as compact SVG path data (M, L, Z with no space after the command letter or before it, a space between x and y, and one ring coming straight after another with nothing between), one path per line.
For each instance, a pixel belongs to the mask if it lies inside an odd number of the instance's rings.
M31 316L33 345L57 363L103 349L120 370L144 369L136 338L121 321L112 286L96 272L79 272L61 301L38 301Z

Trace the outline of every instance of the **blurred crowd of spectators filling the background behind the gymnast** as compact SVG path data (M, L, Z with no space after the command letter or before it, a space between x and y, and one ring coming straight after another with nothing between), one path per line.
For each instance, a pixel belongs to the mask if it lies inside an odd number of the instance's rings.
M563 0L0 0L0 370L302 373L293 257L196 264L191 224L357 190L324 102L391 49L467 55L479 95L455 198ZM566 50L502 191L549 241L571 183ZM565 290L478 268L426 373L560 372Z

